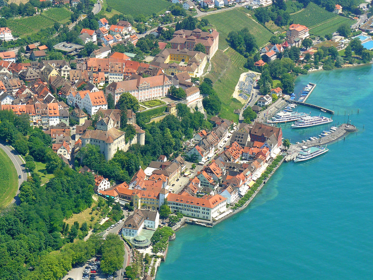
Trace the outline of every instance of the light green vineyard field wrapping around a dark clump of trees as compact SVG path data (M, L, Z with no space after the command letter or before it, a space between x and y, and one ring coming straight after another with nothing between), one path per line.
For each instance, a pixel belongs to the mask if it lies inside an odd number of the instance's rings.
M247 27L257 40L259 47L266 44L273 35L248 15L248 9L242 7L206 16L210 24L219 32L219 49L228 47L229 32Z

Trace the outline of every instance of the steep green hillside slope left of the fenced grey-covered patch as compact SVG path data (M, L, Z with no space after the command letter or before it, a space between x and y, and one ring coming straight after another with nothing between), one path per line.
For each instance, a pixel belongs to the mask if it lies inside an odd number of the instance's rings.
M234 109L242 108L243 104L232 97L239 76L246 72L244 63L246 59L238 52L229 48L226 52L218 50L211 60L211 72L206 76L213 82L213 88L222 101L220 115L223 118L238 121Z

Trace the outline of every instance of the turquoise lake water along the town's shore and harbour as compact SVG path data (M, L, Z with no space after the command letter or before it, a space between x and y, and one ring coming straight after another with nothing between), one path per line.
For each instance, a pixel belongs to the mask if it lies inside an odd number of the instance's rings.
M317 86L307 102L334 110L336 123L350 113L358 133L310 161L282 164L232 218L177 231L156 280L372 279L373 66L301 76L295 91L308 82ZM294 143L327 127L282 129Z

